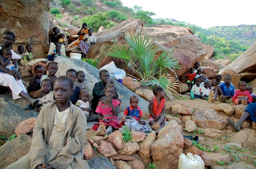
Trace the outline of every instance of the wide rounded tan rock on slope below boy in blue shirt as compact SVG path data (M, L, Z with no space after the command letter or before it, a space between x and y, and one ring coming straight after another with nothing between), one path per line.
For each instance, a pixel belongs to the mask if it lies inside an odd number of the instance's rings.
M228 116L223 113L218 113L211 109L198 109L193 113L191 120L193 120L198 127L201 128L218 128L223 129Z

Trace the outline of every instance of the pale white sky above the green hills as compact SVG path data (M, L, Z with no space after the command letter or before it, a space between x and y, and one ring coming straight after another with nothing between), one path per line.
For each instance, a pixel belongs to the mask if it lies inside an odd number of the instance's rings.
M172 18L204 29L256 24L255 0L121 0L123 6L141 6L152 18Z

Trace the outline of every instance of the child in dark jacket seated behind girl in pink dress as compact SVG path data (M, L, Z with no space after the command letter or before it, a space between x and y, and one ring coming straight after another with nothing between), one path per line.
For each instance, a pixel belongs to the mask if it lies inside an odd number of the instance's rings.
M99 82L94 84L94 88L92 90L92 105L91 105L91 109L93 112L95 112L96 107L98 105L99 101L105 100L106 96L105 96L105 92L104 89L106 87L107 84L113 84L114 85L114 81L113 79L110 79L110 75L109 72L105 69L100 71L100 80ZM116 95L114 95L113 99L117 99L120 103L122 103L122 100L118 98L118 94L116 92Z

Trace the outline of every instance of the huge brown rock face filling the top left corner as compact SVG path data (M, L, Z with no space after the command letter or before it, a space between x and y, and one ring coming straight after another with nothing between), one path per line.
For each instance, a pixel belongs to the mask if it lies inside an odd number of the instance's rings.
M18 45L24 48L32 44L34 58L45 57L49 47L48 32L50 25L50 0L0 1L0 34L6 30L14 31ZM36 53L36 54L35 54Z

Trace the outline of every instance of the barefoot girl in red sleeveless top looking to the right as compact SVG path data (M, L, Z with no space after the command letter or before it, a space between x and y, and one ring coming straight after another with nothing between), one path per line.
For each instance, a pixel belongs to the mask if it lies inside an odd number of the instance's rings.
M151 128L159 132L160 126L163 127L165 123L165 90L160 87L154 87L153 93L155 98L149 101L149 123Z

